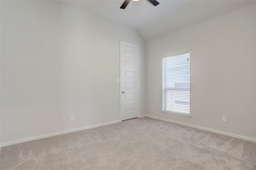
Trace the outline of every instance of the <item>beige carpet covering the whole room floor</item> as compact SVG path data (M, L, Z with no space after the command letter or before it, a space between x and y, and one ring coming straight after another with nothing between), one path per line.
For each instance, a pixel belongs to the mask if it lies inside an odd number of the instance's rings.
M1 170L256 170L256 143L139 118L1 148Z

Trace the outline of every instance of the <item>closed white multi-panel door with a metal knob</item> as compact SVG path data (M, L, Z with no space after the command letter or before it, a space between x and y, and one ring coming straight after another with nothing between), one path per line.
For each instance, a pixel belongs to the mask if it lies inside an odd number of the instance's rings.
M121 120L140 115L139 95L139 48L140 46L120 42L120 90Z

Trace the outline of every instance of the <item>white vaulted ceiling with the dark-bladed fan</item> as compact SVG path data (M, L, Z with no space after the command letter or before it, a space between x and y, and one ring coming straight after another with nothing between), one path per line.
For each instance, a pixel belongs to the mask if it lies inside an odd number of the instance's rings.
M68 6L133 28L147 42L206 20L243 8L256 0L158 0L153 6L146 0L63 0Z

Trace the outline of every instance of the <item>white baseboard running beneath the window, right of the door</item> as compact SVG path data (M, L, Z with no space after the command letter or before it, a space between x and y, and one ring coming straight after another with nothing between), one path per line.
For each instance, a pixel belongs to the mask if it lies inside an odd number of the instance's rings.
M151 115L142 115L140 117L150 117L150 118L158 119L158 120L161 120L161 121L166 121L166 122L170 122L170 123L176 123L176 124L179 124L179 125L184 125L186 127L198 128L198 129L201 129L201 130L206 130L208 132L214 132L214 133L223 134L223 135L234 137L234 138L239 138L239 139L248 140L248 141L251 141L251 142L256 142L256 138L251 138L251 137L242 136L242 135L239 135L239 134L234 134L234 133L224 132L224 131L220 131L220 130L215 130L215 129L212 129L212 128L200 127L200 126L192 125L192 124L189 124L189 123L172 121L170 119L164 119L164 118L155 117L155 116L151 116Z

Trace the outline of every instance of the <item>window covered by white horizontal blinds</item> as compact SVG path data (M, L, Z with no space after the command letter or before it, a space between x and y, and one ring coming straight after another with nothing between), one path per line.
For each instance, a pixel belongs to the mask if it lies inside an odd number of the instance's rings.
M190 54L163 58L162 113L190 117Z

